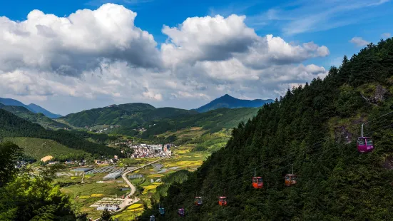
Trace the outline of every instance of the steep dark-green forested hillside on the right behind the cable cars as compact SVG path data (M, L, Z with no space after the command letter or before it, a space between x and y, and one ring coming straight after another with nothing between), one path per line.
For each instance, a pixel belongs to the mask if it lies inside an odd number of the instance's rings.
M225 148L160 198L165 217L155 204L143 220L392 220L392 93L389 38L240 123ZM372 153L357 151L362 123L374 138ZM285 187L292 165L297 185ZM259 190L254 169L265 184ZM218 205L220 195L227 207ZM180 207L186 217L176 214Z

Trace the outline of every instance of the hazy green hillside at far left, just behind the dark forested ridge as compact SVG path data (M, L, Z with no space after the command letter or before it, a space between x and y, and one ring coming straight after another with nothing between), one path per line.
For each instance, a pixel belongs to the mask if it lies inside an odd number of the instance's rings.
M60 123L56 120L46 117L46 115L43 113L33 113L22 106L5 106L0 103L0 108L14 113L14 115L19 116L19 118L24 118L25 120L29 120L33 123L38 123L46 129L71 128L64 123Z

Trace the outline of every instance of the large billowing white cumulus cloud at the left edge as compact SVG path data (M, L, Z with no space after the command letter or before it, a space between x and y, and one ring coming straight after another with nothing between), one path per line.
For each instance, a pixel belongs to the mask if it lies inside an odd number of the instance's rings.
M160 54L148 32L134 26L136 13L115 4L95 11L78 10L68 17L39 10L15 22L0 17L0 66L53 71L78 76L103 61L157 68Z

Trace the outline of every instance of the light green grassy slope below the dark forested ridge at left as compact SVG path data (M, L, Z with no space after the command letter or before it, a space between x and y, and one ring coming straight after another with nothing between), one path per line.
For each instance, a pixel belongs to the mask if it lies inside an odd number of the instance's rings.
M11 141L20 148L24 149L24 153L33 157L36 160L40 160L46 155L51 155L54 158L60 158L63 155L69 155L73 153L75 155L88 155L83 150L75 150L67 148L65 145L61 145L53 140L40 139L40 138L4 138L4 141Z

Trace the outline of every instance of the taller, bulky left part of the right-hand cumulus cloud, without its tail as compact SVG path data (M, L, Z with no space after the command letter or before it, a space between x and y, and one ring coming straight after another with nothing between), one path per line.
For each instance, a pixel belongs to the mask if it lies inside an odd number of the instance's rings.
M223 61L243 53L257 41L255 31L244 24L245 16L205 16L186 19L179 27L163 27L170 43L163 43L167 65L179 62Z

